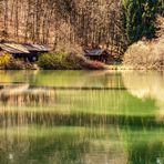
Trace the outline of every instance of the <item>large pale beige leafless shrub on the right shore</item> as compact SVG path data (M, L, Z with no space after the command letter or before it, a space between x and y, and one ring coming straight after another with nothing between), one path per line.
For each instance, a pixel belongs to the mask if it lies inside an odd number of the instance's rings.
M124 54L124 64L134 69L164 70L164 19L158 18L158 39L133 43Z

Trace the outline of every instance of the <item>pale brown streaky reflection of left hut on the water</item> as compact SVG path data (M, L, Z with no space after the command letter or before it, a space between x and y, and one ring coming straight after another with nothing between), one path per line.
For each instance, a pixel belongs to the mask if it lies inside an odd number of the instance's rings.
M55 101L51 88L32 88L28 83L0 85L0 103L3 104L48 104Z

